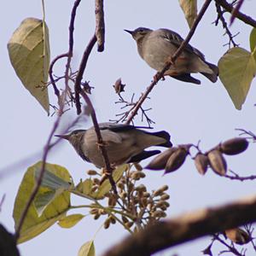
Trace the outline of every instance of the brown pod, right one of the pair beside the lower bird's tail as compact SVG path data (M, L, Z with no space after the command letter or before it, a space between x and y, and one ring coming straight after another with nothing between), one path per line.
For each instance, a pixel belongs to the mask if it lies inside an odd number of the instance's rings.
M169 160L166 163L166 173L176 171L180 166L183 165L183 162L186 160L188 151L185 148L178 148L173 154L171 154Z

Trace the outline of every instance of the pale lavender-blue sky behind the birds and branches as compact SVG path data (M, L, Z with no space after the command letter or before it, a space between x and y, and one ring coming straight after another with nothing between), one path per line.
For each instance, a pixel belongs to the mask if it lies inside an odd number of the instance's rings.
M199 7L203 1L198 1ZM51 58L67 52L68 23L73 1L45 1L46 21L49 26ZM245 1L242 11L256 17L256 3ZM0 221L9 231L14 231L12 211L15 195L23 174L28 166L40 160L40 150L44 147L55 117L48 117L43 108L36 102L16 77L9 62L7 43L21 20L27 17L42 18L41 1L5 1L0 10L1 21L1 73L2 125L0 132L1 162L0 172L5 175L0 180L0 197L6 195L0 212ZM190 44L206 55L207 61L218 63L219 58L227 50L223 44L228 38L223 37L221 26L212 25L216 19L214 3L210 5L195 36ZM166 27L180 33L183 38L189 32L189 26L183 17L178 1L106 1L105 3L106 44L103 53L97 53L96 48L90 55L84 79L90 80L95 89L90 96L100 122L115 119L120 113L119 105L114 104L118 96L114 94L113 83L121 78L126 84L125 96L130 99L132 93L136 97L147 88L155 72L140 59L136 43L124 29L133 30L138 26L153 29ZM249 34L252 27L236 20L231 27L236 42L241 47L249 49ZM82 1L75 23L75 48L73 70L79 67L79 61L95 30L94 1ZM61 75L64 63L55 67L55 74ZM247 101L241 111L234 108L224 86L218 82L212 84L201 75L201 85L186 84L176 79L167 78L160 81L150 94L150 100L145 108L153 108L149 115L155 121L154 130L166 130L172 135L172 143L197 143L201 140L201 149L207 150L230 137L238 136L236 128L255 131L255 80L247 96ZM49 88L50 102L55 102L53 90ZM75 118L75 111L64 115L61 127L68 125ZM141 125L139 117L136 124ZM79 128L87 128L90 120L79 124ZM145 124L144 124L145 125ZM61 128L60 127L60 128ZM255 174L255 145L251 144L247 152L241 155L227 157L228 166L241 176ZM20 161L22 160L22 161ZM65 166L72 174L75 183L86 177L86 170L93 166L84 163L67 143L61 143L49 154L49 163ZM147 161L142 163L145 166ZM213 207L255 193L255 182L230 181L218 177L212 171L201 177L195 170L192 160L177 172L162 176L162 172L145 171L147 177L142 180L148 189L158 189L163 184L169 185L171 207L168 217L195 210L201 207ZM83 199L73 197L73 205L84 204ZM79 212L86 213L80 210ZM90 216L84 218L70 230L61 229L57 224L46 230L31 241L19 246L21 255L76 255L79 247L95 236L102 220L94 221ZM103 253L122 237L127 236L118 224L109 230L100 230L96 235L96 255ZM160 255L201 255L201 250L207 247L210 238L174 247L171 251ZM216 247L218 252L219 247ZM171 253L170 253L171 252ZM248 254L250 255L250 254Z

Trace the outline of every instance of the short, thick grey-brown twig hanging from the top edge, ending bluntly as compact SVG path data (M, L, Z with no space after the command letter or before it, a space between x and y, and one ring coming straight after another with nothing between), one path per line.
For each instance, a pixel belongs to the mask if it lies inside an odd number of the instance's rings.
M95 1L95 16L96 16L96 38L98 44L98 51L104 50L105 43L105 22L103 0Z

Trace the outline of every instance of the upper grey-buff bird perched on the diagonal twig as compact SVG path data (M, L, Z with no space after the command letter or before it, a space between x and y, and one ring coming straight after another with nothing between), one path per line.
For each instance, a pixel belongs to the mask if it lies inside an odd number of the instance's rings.
M158 72L165 66L166 61L175 53L182 44L183 38L166 28L151 30L146 27L138 27L134 31L125 30L131 34L137 43L139 55L148 65ZM193 78L190 73L201 73L215 83L218 79L218 67L205 60L200 50L188 44L181 55L177 57L172 65L164 74L174 79L193 84L201 84L201 81Z

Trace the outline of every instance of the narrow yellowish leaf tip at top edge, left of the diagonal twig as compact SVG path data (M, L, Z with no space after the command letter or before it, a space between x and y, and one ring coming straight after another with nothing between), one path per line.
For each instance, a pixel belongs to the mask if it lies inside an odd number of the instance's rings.
M191 28L197 17L197 0L178 0L178 2Z

